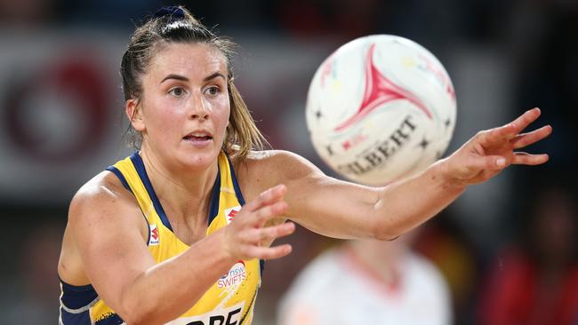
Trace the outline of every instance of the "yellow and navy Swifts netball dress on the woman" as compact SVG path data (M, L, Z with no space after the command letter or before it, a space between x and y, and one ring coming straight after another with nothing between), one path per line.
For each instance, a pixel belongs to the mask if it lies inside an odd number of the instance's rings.
M107 170L114 172L139 202L140 210L149 224L149 252L157 263L189 249L189 246L173 233L138 153L108 167ZM219 172L211 195L206 235L227 226L244 204L233 166L228 156L221 153ZM253 305L260 283L260 260L239 260L195 305L167 324L251 324ZM92 285L73 286L61 281L60 286L60 324L124 324L106 302L98 297Z

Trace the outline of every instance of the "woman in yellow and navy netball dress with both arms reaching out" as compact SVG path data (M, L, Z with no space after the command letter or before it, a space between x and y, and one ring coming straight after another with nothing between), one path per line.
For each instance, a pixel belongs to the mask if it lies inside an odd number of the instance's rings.
M250 324L261 260L282 258L289 219L327 236L389 240L550 134L520 133L527 111L386 187L325 176L299 155L262 149L235 85L231 44L179 7L137 28L121 63L140 150L70 203L60 254L61 324ZM241 207L243 207L241 209Z

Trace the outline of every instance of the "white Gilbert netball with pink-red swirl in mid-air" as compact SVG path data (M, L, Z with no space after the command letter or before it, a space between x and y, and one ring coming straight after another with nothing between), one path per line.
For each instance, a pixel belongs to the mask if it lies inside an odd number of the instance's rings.
M306 118L313 146L333 170L383 185L444 154L454 133L454 86L421 45L365 36L342 45L317 69Z

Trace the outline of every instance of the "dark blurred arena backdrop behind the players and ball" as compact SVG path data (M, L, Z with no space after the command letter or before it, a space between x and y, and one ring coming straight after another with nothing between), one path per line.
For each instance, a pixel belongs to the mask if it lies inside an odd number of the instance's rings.
M158 0L0 0L0 323L57 322L56 273L76 189L130 155L118 67ZM273 147L324 168L307 137L309 81L339 45L393 34L445 65L458 101L448 153L476 131L542 107L543 167L471 187L422 226L413 249L438 267L456 324L578 324L575 0L182 1L241 49L237 87ZM360 217L362 218L362 216ZM340 241L299 228L266 265L256 325L311 258ZM419 313L419 311L416 311ZM387 320L383 321L387 323Z

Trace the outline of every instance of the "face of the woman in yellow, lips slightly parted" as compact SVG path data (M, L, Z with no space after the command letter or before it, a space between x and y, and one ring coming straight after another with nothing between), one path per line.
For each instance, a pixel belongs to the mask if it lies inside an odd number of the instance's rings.
M229 123L227 63L207 44L165 44L142 78L143 148L168 162L215 162Z

